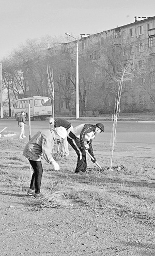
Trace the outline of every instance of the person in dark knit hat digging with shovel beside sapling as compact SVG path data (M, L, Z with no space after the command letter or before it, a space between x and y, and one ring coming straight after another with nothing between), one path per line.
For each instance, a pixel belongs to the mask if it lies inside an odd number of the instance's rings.
M78 125L74 127L72 131L69 132L67 137L68 143L72 146L72 148L75 150L77 154L77 164L75 173L79 173L80 171L85 172L87 169L85 150L88 150L90 155L94 158L94 160L92 161L94 163L96 162L91 142L92 139L94 139L95 136L102 131L104 131L104 125L98 123L96 125Z

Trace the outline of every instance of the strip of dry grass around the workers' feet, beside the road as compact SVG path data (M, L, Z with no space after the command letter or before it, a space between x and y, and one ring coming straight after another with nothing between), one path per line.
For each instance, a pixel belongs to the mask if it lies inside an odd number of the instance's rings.
M1 139L5 150L1 154L1 186L21 188L29 185L29 164L22 155L26 142ZM107 151L108 151L108 145ZM10 148L12 149L10 151ZM98 150L99 144L94 146ZM61 169L54 171L43 160L42 199L27 200L34 207L91 207L115 212L124 217L155 223L154 163L151 158L117 157L110 170L110 158L99 155L103 171L88 160L88 173L74 174L76 155L67 159L57 156ZM121 167L121 168L118 168Z

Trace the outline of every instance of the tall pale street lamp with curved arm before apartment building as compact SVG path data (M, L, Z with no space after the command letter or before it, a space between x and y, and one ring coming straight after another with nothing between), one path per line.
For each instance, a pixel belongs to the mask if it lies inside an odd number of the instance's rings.
M73 37L69 33L65 34ZM76 40L75 37L73 38ZM76 119L77 118L79 118L79 47L76 43Z

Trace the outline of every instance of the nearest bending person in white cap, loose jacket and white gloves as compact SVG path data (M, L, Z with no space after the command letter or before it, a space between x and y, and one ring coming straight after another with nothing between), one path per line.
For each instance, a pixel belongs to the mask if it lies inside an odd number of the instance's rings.
M30 165L34 169L27 195L42 197L42 194L40 193L43 172L41 159L44 158L49 164L54 166L55 171L58 171L60 169L59 165L52 156L54 141L61 141L62 139L66 138L66 135L66 129L61 126L55 128L55 130L42 130L38 131L36 135L26 144L23 155L27 157Z

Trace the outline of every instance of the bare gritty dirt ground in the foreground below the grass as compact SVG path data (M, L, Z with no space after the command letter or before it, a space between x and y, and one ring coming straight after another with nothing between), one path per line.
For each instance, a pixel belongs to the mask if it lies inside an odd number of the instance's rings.
M152 223L143 229L138 219L121 211L118 215L113 207L90 209L72 203L39 209L28 207L28 200L34 199L21 191L0 194L3 256L154 255Z

